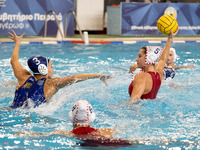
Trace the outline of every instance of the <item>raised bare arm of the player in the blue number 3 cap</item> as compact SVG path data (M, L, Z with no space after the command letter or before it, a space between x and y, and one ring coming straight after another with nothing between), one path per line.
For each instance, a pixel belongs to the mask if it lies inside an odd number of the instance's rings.
M10 59L10 63L12 65L15 77L18 79L19 84L23 84L22 82L24 82L24 80L27 79L27 76L31 75L31 73L24 69L19 62L19 48L24 34L22 34L21 36L17 36L13 30L11 31L12 33L9 32L9 38L13 40L13 42L15 43L15 47Z

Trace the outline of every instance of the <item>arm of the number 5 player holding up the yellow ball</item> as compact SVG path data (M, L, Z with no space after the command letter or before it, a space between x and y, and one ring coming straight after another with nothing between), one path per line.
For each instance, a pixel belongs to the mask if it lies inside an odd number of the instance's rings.
M162 55L160 56L158 64L156 65L156 71L159 72L161 79L164 79L164 77L163 77L164 65L165 65L165 62L167 61L168 56L169 56L169 50L170 50L170 47L171 47L171 42L173 40L173 36L175 36L177 33L178 33L178 29L175 33L171 32L171 34L168 36L168 39L167 39L167 42L165 44Z

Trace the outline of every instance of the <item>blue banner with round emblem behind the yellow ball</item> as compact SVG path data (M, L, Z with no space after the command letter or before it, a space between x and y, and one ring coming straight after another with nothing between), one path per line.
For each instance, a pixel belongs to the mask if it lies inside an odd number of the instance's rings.
M121 3L122 35L161 34L157 20L164 14L173 15L179 24L178 35L200 34L198 3Z

